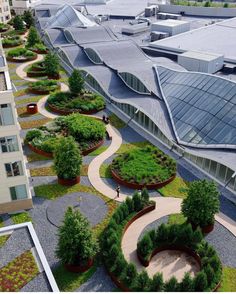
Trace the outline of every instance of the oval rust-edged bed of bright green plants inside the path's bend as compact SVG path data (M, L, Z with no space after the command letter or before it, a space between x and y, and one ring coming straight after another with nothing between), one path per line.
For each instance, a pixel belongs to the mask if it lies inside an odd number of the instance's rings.
M176 162L153 146L117 156L110 169L115 181L132 189L159 189L176 176Z

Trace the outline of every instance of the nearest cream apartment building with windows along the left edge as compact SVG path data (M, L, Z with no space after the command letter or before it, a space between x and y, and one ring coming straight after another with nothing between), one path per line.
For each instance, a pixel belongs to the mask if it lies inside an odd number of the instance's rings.
M0 214L32 207L19 133L11 81L0 47Z

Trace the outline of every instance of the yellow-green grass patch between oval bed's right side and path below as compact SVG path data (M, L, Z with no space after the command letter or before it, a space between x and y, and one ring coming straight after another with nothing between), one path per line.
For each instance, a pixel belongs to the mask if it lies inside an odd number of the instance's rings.
M186 198L188 186L182 178L176 177L171 183L158 190L165 197Z

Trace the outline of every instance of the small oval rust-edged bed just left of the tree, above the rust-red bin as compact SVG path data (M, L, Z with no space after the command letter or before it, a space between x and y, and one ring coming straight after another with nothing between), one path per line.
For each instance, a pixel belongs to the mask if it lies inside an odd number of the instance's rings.
M60 84L55 80L42 80L28 85L28 92L38 95L46 95L59 89Z

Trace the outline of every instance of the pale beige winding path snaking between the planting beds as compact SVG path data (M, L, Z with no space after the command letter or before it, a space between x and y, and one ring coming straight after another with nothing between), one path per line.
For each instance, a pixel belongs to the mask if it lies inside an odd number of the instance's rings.
M38 58L34 61L30 61L20 65L16 69L17 75L19 75L22 79L27 81L36 81L36 79L31 79L26 76L24 71L25 67L33 64L34 62L41 61L43 59L43 55L38 55ZM65 84L62 84L62 91L67 91L68 87ZM47 96L43 97L38 102L39 112L46 117L55 118L58 115L48 112L45 109L45 103L47 100ZM128 196L127 194L120 194L120 197L116 197L116 192L110 186L106 185L106 183L101 179L99 174L99 169L101 165L104 163L106 159L112 156L121 146L122 144L122 136L120 132L112 127L111 125L106 126L106 130L110 137L112 137L112 141L110 146L100 155L96 156L89 165L88 168L88 178L93 185L93 187L99 191L100 193L106 195L111 199L115 199L119 202L125 200ZM137 268L140 270L142 266L137 260L135 250L138 242L138 238L143 231L143 229L150 223L156 221L157 219L167 216L172 213L179 213L181 210L181 202L182 199L174 198L174 197L152 197L152 200L156 202L156 207L154 211L144 215L142 218L136 220L125 232L122 240L122 250L125 258L128 261L132 261L136 264ZM223 213L218 213L215 219L227 228L234 236L236 236L236 222L224 215ZM152 267L147 268L148 271L152 271ZM151 272L150 272L151 274Z

